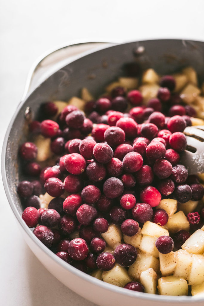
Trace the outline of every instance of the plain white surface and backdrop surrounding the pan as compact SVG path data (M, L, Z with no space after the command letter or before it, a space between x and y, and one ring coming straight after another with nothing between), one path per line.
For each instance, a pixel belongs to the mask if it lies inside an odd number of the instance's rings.
M0 141L28 70L46 50L75 39L204 40L202 0L7 0L0 8ZM0 296L6 306L93 306L55 279L21 237L0 185Z

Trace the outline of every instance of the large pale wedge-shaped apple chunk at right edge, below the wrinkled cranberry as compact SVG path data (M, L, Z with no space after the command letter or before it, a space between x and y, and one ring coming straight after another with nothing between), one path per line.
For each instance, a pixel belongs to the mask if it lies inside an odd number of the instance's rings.
M182 245L182 249L192 254L204 253L204 231L196 230Z

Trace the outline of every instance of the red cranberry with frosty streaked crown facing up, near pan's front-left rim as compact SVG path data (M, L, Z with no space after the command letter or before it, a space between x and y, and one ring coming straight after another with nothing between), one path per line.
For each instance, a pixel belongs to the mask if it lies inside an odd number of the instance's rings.
M82 238L75 238L69 242L68 253L72 259L83 260L88 255L88 246Z

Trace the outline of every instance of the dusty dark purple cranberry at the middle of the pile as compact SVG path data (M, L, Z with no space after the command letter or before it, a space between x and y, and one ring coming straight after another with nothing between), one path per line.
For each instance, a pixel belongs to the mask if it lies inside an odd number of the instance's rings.
M123 189L123 183L117 177L110 177L103 184L103 192L109 199L114 199L120 196Z

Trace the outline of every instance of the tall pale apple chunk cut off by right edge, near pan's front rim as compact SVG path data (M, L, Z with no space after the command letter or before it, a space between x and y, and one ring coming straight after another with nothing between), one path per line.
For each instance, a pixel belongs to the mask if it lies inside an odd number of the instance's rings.
M204 256L191 254L192 266L188 275L188 285L198 285L204 282Z

